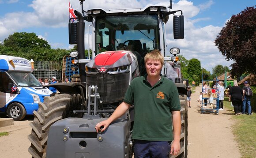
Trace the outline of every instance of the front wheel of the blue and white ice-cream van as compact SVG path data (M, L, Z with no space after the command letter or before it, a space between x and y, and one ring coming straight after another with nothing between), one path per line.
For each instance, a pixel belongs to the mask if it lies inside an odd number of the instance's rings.
M23 105L15 102L8 106L8 117L13 120L22 120L26 116L26 110Z

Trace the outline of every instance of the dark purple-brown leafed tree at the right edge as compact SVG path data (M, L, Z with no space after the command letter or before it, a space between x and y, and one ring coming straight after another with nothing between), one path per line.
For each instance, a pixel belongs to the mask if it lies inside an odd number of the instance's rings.
M247 7L232 15L215 39L215 45L227 60L233 60L231 75L256 74L256 8Z

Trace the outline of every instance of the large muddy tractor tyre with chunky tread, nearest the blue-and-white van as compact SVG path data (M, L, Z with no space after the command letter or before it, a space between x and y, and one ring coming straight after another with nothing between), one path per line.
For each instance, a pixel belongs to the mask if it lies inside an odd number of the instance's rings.
M28 139L31 146L28 148L32 158L46 158L47 138L50 126L57 120L74 116L73 110L81 108L80 94L55 94L45 97L44 102L38 103L38 111L34 111L34 121Z

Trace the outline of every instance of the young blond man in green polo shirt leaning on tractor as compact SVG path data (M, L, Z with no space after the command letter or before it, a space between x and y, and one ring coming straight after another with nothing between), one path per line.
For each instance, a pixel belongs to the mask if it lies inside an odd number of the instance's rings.
M181 149L178 90L173 81L160 75L164 58L158 50L147 53L144 61L147 74L132 80L124 102L108 120L99 122L95 128L97 132L103 132L113 120L121 117L134 105L132 139L135 158L169 158L169 154L177 155ZM101 130L102 126L104 128Z

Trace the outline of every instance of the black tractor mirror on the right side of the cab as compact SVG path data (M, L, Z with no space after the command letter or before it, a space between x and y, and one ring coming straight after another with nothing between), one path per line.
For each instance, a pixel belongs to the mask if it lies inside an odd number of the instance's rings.
M173 37L174 39L184 39L184 17L183 15L173 16Z

